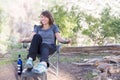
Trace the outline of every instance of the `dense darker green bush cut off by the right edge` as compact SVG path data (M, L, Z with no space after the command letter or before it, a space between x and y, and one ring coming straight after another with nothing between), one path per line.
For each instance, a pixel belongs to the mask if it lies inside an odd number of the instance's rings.
M104 36L116 38L120 35L120 18L110 15L110 8L106 8L102 12L101 24Z

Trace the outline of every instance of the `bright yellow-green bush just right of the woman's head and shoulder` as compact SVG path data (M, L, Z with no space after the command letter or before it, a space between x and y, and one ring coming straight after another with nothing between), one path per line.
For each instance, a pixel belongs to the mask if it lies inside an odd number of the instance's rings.
M68 10L63 5L55 5L51 8L55 22L59 26L62 36L65 38L76 38L76 32L80 29L79 21L81 13L76 10L76 7Z

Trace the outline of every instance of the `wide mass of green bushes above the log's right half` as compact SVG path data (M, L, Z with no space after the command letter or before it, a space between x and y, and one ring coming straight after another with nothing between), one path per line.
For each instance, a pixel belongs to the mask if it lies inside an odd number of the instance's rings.
M120 38L120 18L110 15L110 8L105 8L101 13L101 18L94 18L91 15L84 14L87 29L82 33L89 36L91 40L98 45L105 43L105 38L113 37L117 41Z

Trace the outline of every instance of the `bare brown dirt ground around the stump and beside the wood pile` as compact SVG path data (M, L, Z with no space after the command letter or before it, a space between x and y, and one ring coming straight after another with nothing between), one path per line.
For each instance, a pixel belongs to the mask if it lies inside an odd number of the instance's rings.
M67 55L64 54L66 58L73 58L77 55ZM77 66L73 65L71 62L60 62L59 63L59 76L56 76L48 69L47 80L93 80L87 75L92 72L95 67L92 66ZM118 75L120 80L120 74ZM18 80L16 74L16 64L6 64L0 66L0 80ZM20 79L19 79L20 80Z

